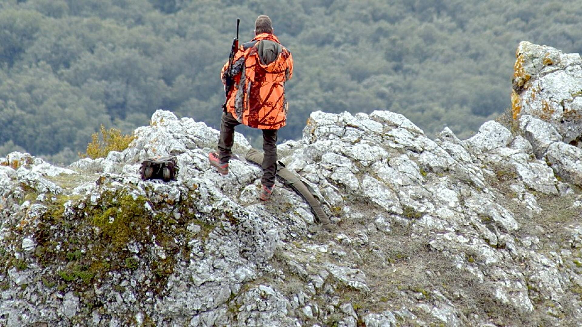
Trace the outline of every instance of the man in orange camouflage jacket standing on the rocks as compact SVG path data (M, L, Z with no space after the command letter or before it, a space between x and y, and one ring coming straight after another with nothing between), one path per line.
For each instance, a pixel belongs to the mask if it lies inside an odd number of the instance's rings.
M228 174L232 157L235 127L241 123L262 130L262 190L260 200L267 201L275 187L277 172L277 131L285 126L288 109L285 82L293 74L291 52L283 47L268 16L255 21L255 37L237 49L230 76L233 85L227 95L222 114L218 154L210 152L208 159L222 175ZM222 67L222 83L226 85L229 62Z

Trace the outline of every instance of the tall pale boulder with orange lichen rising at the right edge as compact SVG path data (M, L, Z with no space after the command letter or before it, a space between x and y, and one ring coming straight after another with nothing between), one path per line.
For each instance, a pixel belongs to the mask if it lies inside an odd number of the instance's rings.
M582 59L521 42L513 77L513 116L538 158L577 185L582 181ZM574 145L577 148L569 147Z

